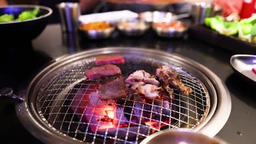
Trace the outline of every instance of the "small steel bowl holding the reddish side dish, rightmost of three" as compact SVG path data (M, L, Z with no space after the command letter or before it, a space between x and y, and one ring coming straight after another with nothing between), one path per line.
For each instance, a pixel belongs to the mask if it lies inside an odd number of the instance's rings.
M185 26L185 28L182 30L176 30L176 29L172 29L172 28L165 29L165 28L161 28L161 27L155 27L154 23L152 26L154 31L156 32L156 34L158 34L159 37L162 37L162 38L180 38L188 30L188 25L186 25L184 22L182 22L182 23Z

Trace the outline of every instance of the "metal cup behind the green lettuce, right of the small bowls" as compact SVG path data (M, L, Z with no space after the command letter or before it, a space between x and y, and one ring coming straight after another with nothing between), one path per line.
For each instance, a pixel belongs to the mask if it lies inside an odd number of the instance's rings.
M207 2L192 4L191 16L194 24L202 24L206 17L214 16L214 5Z

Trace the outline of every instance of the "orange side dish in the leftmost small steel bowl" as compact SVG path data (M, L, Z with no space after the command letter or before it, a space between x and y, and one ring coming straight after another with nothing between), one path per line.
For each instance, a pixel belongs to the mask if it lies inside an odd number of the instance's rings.
M110 27L111 27L110 24L107 22L91 22L91 23L84 23L80 25L79 29L84 31L90 31L90 30L102 31Z

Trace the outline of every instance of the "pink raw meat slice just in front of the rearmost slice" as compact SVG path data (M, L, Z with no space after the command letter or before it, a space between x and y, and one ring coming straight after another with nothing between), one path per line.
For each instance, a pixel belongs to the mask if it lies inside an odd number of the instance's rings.
M120 74L121 74L120 68L113 64L94 67L85 71L85 76L88 77L88 79L90 80L99 79L105 76L114 76L114 75L120 75Z

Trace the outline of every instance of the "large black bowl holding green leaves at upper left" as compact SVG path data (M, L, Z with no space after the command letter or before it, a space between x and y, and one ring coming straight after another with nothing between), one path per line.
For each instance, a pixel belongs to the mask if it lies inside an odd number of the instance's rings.
M43 32L49 16L53 13L50 8L40 5L8 5L0 7L0 15L13 14L15 19L22 11L33 10L34 8L39 8L39 13L34 19L0 23L0 41L33 40Z

